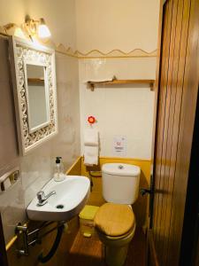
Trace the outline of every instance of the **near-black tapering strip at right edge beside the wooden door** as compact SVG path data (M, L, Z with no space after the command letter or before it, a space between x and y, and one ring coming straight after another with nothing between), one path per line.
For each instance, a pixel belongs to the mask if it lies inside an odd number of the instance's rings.
M199 56L199 55L198 55ZM199 71L199 69L198 69ZM199 75L199 74L198 74ZM182 239L180 246L180 265L193 265L199 262L199 95L195 113L195 129L191 160L188 172L188 192L185 206Z

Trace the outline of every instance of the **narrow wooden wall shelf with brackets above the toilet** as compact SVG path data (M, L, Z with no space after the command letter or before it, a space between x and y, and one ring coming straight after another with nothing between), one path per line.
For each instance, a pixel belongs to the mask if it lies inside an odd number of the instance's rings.
M155 80L117 80L113 79L112 81L104 82L88 82L90 90L94 91L95 86L99 84L104 85L114 85L114 84L149 84L150 90L153 90Z

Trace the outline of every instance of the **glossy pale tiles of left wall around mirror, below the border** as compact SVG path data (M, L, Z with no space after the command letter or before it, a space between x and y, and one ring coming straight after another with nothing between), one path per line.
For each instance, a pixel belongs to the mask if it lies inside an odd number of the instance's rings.
M6 41L0 38L0 52ZM2 48L3 46L3 48ZM8 80L8 58L0 61L0 175L18 165L21 177L8 191L0 194L0 211L3 216L4 236L8 242L14 235L17 223L27 220L26 207L36 192L53 176L56 156L62 156L65 169L80 156L80 100L78 62L65 55L57 55L58 127L56 137L22 157L19 156L15 129L12 89ZM2 82L2 80L4 82ZM6 82L5 82L6 81ZM6 112L7 111L7 112ZM6 113L5 115L3 115Z

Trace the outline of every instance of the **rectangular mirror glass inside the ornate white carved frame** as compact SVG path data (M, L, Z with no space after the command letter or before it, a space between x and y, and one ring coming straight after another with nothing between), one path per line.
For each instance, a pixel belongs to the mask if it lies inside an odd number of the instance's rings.
M46 67L26 63L26 90L29 132L41 129L50 122L49 91Z

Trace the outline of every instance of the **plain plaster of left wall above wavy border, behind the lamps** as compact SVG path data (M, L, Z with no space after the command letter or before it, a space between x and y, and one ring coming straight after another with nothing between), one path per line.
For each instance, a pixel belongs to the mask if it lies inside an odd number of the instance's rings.
M21 25L26 15L34 20L44 18L52 40L66 47L76 47L75 35L75 2L74 0L1 0L0 26L13 22Z

